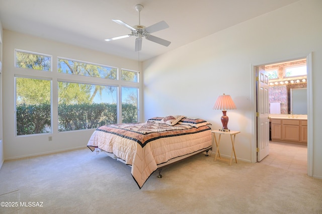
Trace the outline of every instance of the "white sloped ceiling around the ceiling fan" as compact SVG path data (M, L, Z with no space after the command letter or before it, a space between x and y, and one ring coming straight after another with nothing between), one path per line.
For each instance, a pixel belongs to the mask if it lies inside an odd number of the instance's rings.
M5 30L30 34L108 54L138 59L135 37L106 42L130 30L113 22L141 25L166 21L170 28L153 33L171 41L165 47L143 38L140 61L163 54L298 0L0 0Z

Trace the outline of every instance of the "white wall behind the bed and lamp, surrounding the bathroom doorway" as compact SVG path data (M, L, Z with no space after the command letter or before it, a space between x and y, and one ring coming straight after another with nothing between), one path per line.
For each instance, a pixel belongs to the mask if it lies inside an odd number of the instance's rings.
M322 118L321 23L322 1L303 0L144 62L145 120L179 114L205 119L219 129L222 113L212 106L218 95L230 94L237 110L227 111L228 128L241 131L236 136L237 158L255 162L251 65L312 52L313 176L322 178L322 121L316 120ZM230 156L230 145L222 146L220 152Z

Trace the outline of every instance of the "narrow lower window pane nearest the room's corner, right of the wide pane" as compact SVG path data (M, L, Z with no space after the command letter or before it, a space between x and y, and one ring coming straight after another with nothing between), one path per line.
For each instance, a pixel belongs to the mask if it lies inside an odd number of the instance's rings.
M122 123L137 123L138 89L122 87Z

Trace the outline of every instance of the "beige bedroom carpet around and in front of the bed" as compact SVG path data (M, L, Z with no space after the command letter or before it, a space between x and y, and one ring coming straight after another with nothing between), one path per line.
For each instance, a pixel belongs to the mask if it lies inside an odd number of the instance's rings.
M322 213L322 180L213 158L156 171L142 189L129 166L88 148L5 161L0 201L17 206L0 213Z

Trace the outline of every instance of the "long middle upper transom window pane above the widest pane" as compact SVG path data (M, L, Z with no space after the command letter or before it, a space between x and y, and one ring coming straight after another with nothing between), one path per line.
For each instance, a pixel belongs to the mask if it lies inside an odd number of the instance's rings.
M117 79L117 68L58 58L58 72Z

